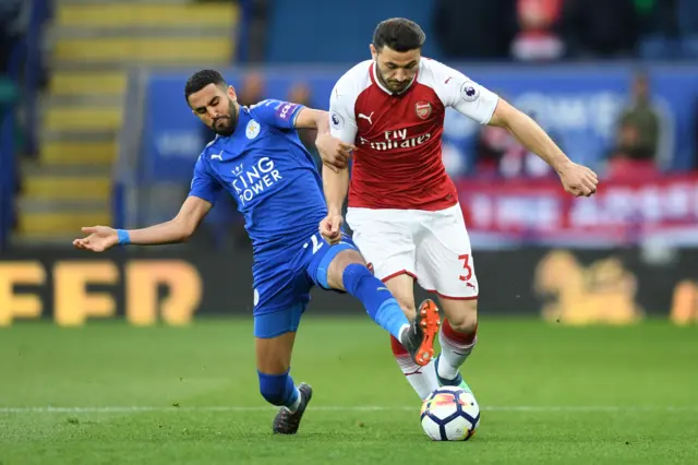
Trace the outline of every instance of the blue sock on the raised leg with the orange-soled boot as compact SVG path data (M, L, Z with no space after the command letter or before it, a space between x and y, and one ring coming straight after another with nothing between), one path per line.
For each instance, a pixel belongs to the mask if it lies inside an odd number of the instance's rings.
M369 317L400 341L402 327L410 323L385 284L359 263L348 265L341 278L347 293L361 300Z

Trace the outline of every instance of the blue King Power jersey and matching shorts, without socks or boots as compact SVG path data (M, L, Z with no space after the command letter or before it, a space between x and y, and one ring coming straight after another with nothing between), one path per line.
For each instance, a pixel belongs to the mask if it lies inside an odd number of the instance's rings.
M234 132L217 136L200 155L190 195L215 204L232 195L252 240L254 333L275 337L296 331L314 286L328 289L327 269L342 250L342 235L327 243L318 231L327 215L322 179L294 119L303 107L264 100L240 107Z

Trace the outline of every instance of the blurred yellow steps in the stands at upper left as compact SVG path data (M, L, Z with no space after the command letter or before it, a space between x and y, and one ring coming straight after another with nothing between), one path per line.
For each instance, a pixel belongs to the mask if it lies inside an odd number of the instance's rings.
M26 166L17 240L64 241L84 224L108 224L112 164L128 70L220 67L234 58L236 3L128 0L57 3L51 78L41 98L36 163Z

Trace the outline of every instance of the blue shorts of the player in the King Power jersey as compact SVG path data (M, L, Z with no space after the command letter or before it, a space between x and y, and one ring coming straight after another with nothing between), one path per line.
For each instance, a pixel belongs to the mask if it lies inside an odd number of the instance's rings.
M272 338L298 330L310 290L329 289L327 270L339 252L358 250L351 238L330 246L316 233L297 250L262 261L254 275L254 336Z

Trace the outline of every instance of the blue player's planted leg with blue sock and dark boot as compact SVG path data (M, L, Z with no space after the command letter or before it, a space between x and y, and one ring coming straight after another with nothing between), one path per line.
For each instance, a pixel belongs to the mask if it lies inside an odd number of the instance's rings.
M272 405L279 406L272 430L296 434L313 396L305 383L298 388L290 375L291 351L302 307L254 317L260 393Z

